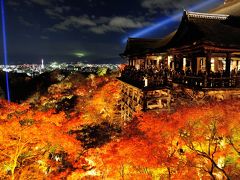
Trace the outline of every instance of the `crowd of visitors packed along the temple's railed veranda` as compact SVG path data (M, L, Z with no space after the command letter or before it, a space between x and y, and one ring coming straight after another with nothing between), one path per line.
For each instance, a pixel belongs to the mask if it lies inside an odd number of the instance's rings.
M121 79L137 87L155 88L171 86L172 82L191 87L240 87L240 71L210 71L193 73L190 68L186 71L172 69L157 69L155 67L139 68L126 66L121 72Z

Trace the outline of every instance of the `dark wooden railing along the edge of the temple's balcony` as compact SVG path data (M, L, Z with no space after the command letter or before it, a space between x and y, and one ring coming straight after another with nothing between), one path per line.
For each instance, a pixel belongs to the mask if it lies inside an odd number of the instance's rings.
M240 88L240 76L232 77L209 77L187 76L177 73L162 72L148 73L136 70L122 72L120 80L138 88L160 89L172 87L172 83L183 84L190 88Z

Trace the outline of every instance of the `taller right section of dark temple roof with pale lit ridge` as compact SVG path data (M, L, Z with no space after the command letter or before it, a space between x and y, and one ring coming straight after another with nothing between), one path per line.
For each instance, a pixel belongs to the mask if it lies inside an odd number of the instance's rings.
M198 43L240 49L240 17L184 12L182 22L167 48Z

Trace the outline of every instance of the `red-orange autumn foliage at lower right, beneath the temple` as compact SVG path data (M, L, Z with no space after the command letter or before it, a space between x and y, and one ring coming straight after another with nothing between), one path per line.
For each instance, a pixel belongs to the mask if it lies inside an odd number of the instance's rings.
M105 178L236 179L239 107L227 101L139 114L121 139L92 150L90 157Z

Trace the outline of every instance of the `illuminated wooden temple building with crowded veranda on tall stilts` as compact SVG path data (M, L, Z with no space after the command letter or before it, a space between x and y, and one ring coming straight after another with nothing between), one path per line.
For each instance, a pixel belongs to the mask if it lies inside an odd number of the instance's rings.
M240 16L221 8L185 11L179 28L161 40L129 38L121 57L128 61L119 77L124 119L137 108L169 110L179 97L240 98Z

